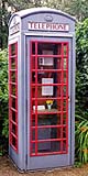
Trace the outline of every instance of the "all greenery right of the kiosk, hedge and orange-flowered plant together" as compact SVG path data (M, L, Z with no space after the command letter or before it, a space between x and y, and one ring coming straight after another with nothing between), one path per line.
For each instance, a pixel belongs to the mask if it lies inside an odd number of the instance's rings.
M76 29L76 157L88 162L88 19Z

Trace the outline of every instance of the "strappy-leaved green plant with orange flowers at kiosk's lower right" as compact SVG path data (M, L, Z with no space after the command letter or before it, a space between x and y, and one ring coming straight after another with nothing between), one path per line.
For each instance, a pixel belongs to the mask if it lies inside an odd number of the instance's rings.
M88 114L87 114L88 116ZM88 118L88 117L87 117ZM88 120L76 117L76 155L79 162L88 162Z

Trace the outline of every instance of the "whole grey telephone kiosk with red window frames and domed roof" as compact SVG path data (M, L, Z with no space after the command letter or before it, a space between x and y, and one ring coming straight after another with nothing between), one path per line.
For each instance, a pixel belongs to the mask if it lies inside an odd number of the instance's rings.
M20 169L74 164L75 19L48 8L9 22L9 154Z

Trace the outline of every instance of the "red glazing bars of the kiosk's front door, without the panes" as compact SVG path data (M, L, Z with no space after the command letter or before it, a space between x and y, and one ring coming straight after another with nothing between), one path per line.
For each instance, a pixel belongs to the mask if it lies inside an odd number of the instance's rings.
M61 44L62 45L62 54L61 55L38 55L37 54L37 44ZM35 44L35 54L32 54L32 44ZM31 128L30 128L30 143L31 143L31 150L30 155L31 156L43 156L43 155L51 155L51 154L67 154L68 153L68 42L46 42L46 41L31 41ZM64 54L64 46L66 46L66 54ZM61 69L37 69L37 58L38 57L56 57L61 58L62 68ZM33 58L35 58L35 69L33 68ZM64 69L64 59L66 59L66 68ZM32 73L35 73L35 84L32 82ZM45 73L62 73L62 82L61 84L37 84L37 73L38 72L45 72ZM64 82L64 73L66 73L66 82ZM54 97L54 98L38 98L37 97L37 89L38 86L59 86L62 89L62 96L61 97ZM64 97L64 86L66 86L66 97ZM35 97L32 97L32 88L35 87ZM58 112L38 112L37 111L37 100L61 100L61 111ZM64 100L66 100L66 111L64 110ZM35 101L35 112L32 110L32 102ZM37 114L61 114L61 124L57 125L40 125L37 124ZM66 124L64 124L64 114L66 114ZM35 116L35 125L33 125L33 116ZM48 128L61 128L61 135L62 138L58 139L47 139L47 140L37 140L37 130L38 129L48 129ZM32 140L32 133L33 129L35 129L35 140ZM66 129L66 136L63 136L64 129ZM46 152L46 153L38 153L37 151L37 144L44 143L44 142L52 142L52 141L61 141L61 152ZM66 143L66 148L64 150L64 142ZM35 153L32 152L32 144L35 144Z

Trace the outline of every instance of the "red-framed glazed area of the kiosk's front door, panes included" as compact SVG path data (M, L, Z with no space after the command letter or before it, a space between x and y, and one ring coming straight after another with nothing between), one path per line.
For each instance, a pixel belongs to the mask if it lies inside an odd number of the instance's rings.
M41 156L51 154L66 154L68 151L68 43L32 41L30 51L31 51L30 155ZM44 54L44 51L46 51L47 54ZM45 61L46 59L50 61L51 58L53 61L52 62L53 64L47 63L45 65L41 64L40 66L38 59L41 57L44 58ZM45 76L48 74L50 76ZM51 75L53 76L51 77ZM42 82L43 78L52 78L54 82L44 84ZM43 95L44 87L45 88L50 87L51 89L53 89L53 95L51 96ZM55 101L53 105L54 107L51 110L48 110L48 108L45 107L46 101L51 102ZM40 105L42 105L42 108L45 107L45 109L38 110Z

